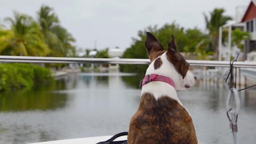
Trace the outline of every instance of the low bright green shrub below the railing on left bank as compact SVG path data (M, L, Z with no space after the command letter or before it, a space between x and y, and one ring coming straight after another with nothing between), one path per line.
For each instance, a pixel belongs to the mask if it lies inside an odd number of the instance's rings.
M35 83L52 81L51 71L28 63L0 65L0 91L31 87Z

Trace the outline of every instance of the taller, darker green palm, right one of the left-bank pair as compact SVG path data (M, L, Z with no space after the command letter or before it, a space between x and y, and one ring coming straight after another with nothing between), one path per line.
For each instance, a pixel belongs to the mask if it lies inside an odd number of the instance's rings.
M51 49L50 56L66 57L73 55L75 47L71 43L75 42L75 39L65 28L60 26L59 19L53 9L43 5L37 14L45 42Z

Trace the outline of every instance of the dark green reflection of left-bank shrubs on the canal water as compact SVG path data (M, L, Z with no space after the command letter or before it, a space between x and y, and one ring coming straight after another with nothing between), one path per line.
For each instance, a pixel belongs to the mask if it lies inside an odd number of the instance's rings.
M67 94L51 93L51 90L66 89L66 83L36 85L31 89L0 93L0 111L49 110L65 107Z

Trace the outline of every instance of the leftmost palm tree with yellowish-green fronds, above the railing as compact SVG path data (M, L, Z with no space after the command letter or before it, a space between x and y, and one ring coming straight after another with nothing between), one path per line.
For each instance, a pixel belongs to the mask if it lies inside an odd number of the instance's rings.
M11 30L3 30L0 34L5 43L1 45L1 54L23 56L45 56L50 52L37 23L28 15L14 12Z

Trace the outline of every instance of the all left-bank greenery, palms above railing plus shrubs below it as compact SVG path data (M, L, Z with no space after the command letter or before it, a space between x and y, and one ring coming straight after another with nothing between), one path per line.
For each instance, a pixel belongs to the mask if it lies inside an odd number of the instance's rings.
M75 39L60 25L57 14L43 5L34 20L27 14L14 12L0 25L0 55L75 57ZM53 66L53 65L47 65ZM54 65L54 66L61 66ZM28 88L35 83L52 81L49 69L33 64L2 63L0 91Z

